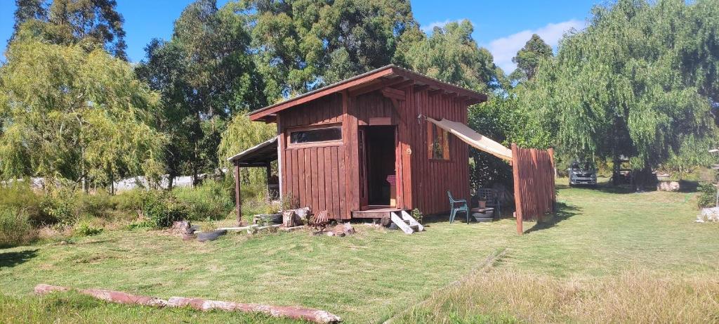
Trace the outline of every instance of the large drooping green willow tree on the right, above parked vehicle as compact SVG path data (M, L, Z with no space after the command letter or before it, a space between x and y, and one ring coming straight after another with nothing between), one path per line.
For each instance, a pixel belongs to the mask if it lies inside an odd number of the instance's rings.
M567 156L632 157L648 171L710 130L710 99L684 76L696 4L620 0L596 6L587 29L564 37L557 58L526 82L523 106ZM708 13L706 13L708 14ZM697 148L705 149L705 148Z

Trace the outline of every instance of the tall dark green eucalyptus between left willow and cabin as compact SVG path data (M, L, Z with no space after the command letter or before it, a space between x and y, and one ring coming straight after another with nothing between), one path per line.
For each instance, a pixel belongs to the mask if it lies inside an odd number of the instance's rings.
M153 40L139 76L162 95L160 130L168 146L171 179L218 166L217 146L227 120L267 104L249 48L248 16L242 4L221 8L214 0L188 5L170 40Z

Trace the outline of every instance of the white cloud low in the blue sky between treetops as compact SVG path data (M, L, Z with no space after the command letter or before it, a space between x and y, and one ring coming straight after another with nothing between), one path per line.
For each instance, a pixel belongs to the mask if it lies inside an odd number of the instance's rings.
M585 28L585 22L572 19L557 24L547 24L537 30L523 30L516 34L491 41L490 44L487 45L487 49L492 53L495 64L502 68L505 73L509 74L517 68L517 65L512 63L512 58L517 55L518 50L523 48L527 40L532 37L532 34L539 35L551 48L557 48L557 44L559 40L562 39L564 32L572 28L575 30L583 30Z

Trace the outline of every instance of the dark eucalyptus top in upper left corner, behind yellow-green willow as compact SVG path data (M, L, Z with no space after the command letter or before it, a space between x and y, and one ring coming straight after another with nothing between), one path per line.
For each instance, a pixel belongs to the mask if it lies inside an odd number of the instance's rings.
M124 19L114 0L16 0L14 32L55 44L101 47L127 60ZM22 27L24 25L24 27Z

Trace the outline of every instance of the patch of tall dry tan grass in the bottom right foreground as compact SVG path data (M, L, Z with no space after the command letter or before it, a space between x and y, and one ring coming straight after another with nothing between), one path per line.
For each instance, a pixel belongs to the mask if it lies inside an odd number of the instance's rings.
M400 323L717 323L716 274L682 277L647 270L559 279L493 270L440 289Z

